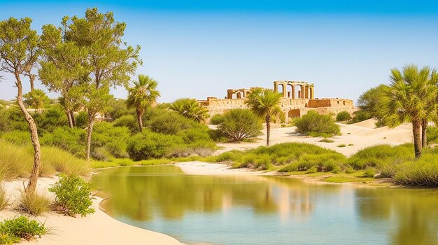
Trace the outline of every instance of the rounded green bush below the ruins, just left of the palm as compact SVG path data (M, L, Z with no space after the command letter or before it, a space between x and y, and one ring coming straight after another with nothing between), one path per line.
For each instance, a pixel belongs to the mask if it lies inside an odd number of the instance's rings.
M232 109L224 113L218 131L229 141L243 141L262 134L262 128L262 123L252 111Z

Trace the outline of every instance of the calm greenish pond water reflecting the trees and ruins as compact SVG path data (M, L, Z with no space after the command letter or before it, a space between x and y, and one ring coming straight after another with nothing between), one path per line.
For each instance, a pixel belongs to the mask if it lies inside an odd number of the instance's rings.
M175 166L93 177L111 216L185 244L438 244L438 191L193 176Z

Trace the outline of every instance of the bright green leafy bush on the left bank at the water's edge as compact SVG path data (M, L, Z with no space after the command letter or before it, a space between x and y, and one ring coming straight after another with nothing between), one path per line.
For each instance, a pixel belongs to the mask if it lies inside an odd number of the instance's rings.
M94 209L90 208L92 201L90 198L91 184L87 183L79 176L60 176L59 181L49 189L55 193L55 204L62 210L65 215L87 216L94 213Z

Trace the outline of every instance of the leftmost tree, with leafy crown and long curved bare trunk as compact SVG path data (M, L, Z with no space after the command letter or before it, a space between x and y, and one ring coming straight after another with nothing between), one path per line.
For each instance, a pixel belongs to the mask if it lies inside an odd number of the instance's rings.
M38 139L38 130L34 118L27 111L23 103L22 78L29 67L34 66L38 52L38 34L31 29L30 18L17 20L9 18L0 22L0 57L1 69L12 73L17 87L17 104L26 118L31 133L31 141L34 146L34 166L32 168L26 192L33 193L36 190L36 182L41 165L41 149Z

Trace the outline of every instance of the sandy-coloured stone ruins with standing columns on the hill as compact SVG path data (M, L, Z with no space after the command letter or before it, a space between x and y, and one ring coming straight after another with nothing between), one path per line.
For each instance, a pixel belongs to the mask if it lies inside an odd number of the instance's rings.
M248 108L245 99L251 89L227 90L225 99L207 97L199 103L209 109L210 116L224 113L229 109ZM353 113L355 107L351 99L318 99L314 97L313 83L304 81L276 80L274 81L274 91L283 94L280 108L285 116L286 123L289 118L297 118L306 114L308 111L317 111L320 114L337 114L341 111Z

